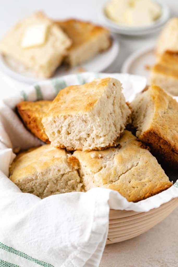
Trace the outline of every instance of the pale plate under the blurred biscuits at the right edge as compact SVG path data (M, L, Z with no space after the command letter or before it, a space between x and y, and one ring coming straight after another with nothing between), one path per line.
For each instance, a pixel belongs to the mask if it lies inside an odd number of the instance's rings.
M131 54L124 62L121 68L122 73L142 75L149 78L149 70L146 66L155 64L156 58L154 54L155 43L137 50Z

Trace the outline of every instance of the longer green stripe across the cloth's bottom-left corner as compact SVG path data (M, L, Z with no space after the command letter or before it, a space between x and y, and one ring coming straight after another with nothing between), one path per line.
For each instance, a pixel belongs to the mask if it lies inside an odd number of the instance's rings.
M37 263L37 264L39 264L41 266L44 266L44 267L54 267L53 265L51 265L49 263L46 263L44 261L37 260L37 259L35 259L35 258L33 258L33 257L31 257L31 256L29 256L29 255L27 255L27 254L19 251L19 250L16 250L14 248L11 248L11 247L7 246L7 245L5 245L5 244L3 244L1 242L0 242L0 249L4 249L4 250L6 250L8 252L11 252L11 253L13 253L13 254L15 254L17 256L20 256L20 257L22 257L24 259L27 259L29 261L33 261L33 262L35 262L35 263ZM9 265L7 265L7 266L9 266ZM14 266L16 266L16 265L14 265Z

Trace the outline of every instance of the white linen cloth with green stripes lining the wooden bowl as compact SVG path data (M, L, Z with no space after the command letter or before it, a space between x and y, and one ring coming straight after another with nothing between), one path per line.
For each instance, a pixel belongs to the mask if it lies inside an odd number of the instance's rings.
M146 79L129 74L80 73L46 80L2 100L0 105L0 266L99 266L105 246L109 209L149 211L178 197L178 182L143 201L128 202L118 192L94 188L87 193L65 193L40 199L22 193L9 180L12 148L42 144L25 129L14 112L22 100L53 99L65 86L97 77L115 77L131 101ZM4 88L6 90L6 88Z

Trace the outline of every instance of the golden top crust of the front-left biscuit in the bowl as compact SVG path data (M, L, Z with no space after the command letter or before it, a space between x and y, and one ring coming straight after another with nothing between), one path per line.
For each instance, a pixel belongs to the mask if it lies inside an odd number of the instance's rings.
M64 173L72 170L68 163L67 152L64 149L54 148L50 144L19 153L9 168L10 179L13 182L25 179L36 172L50 170L54 164L61 164Z

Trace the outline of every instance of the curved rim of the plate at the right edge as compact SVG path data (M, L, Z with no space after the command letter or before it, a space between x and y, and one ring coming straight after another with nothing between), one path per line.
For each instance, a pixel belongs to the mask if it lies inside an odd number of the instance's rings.
M130 54L130 56L128 56L126 58L126 60L124 61L124 63L122 64L121 73L129 73L129 68L132 65L132 63L141 55L143 55L147 52L150 52L151 50L154 50L155 46L156 46L156 44L154 42L154 43L149 44L149 45L145 46L144 48L140 48L140 49L136 50L135 52L133 52L132 54Z

